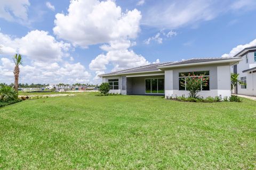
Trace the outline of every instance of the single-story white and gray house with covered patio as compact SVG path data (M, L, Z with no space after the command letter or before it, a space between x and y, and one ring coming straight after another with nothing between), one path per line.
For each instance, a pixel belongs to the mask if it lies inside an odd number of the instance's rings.
M209 86L203 87L203 97L229 97L230 65L241 61L241 57L195 58L180 62L150 64L132 69L99 75L102 82L110 84L111 93L123 95L188 96L186 88L180 86L182 74L205 74Z

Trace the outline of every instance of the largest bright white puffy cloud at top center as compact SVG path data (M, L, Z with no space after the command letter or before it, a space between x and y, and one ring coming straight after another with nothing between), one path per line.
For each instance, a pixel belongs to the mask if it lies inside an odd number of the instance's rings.
M136 9L122 12L121 7L110 0L71 0L68 14L58 13L55 18L55 35L86 48L93 44L136 38L141 14Z

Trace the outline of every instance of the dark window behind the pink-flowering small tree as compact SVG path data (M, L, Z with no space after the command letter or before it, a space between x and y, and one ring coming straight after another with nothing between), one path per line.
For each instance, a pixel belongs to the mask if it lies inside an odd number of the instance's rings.
M207 81L207 86L203 87L201 85L201 90L210 90L210 71L197 71L197 72L179 73L179 90L187 90L186 81L187 81L187 78L192 77L191 75L195 75L196 77L200 77L201 75L204 75L204 77L209 77L209 80ZM181 86L182 83L185 84L185 87Z

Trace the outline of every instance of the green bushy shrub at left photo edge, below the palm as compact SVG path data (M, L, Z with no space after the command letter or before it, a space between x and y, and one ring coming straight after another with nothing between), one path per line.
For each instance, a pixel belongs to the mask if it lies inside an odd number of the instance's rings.
M9 86L0 87L0 101L15 101L18 99L18 93Z

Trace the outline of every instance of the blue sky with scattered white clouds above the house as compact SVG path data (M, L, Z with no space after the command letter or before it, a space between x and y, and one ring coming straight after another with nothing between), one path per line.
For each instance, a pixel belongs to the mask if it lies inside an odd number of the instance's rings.
M233 56L256 45L256 2L0 2L0 82L100 83L98 74L154 62Z

